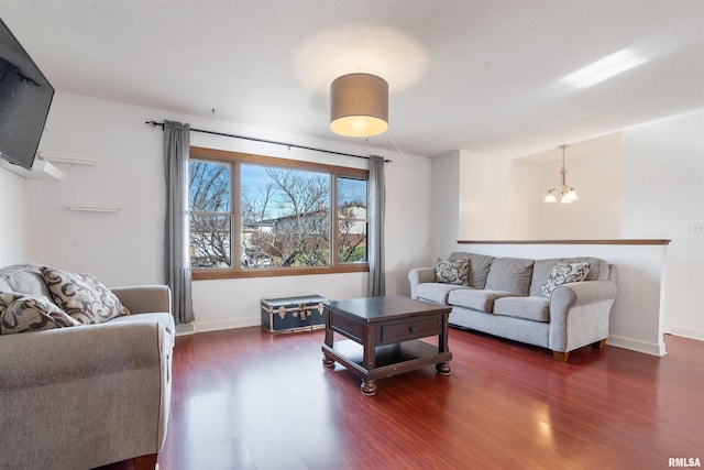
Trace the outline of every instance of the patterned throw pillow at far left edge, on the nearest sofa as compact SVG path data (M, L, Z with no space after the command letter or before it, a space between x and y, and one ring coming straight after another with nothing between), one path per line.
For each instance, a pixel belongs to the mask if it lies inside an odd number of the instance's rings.
M0 293L0 335L80 325L46 297Z

